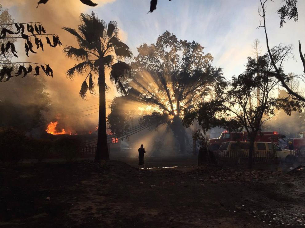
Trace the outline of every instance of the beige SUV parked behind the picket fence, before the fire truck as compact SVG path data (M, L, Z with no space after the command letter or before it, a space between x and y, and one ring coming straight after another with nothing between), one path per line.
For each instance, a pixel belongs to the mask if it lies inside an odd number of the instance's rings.
M225 142L221 144L218 155L226 154L229 152L240 152L239 155L248 157L250 142ZM273 150L273 152L272 152ZM263 157L267 151L274 153L275 158L279 158L285 162L292 162L295 159L295 152L292 150L282 149L278 145L270 142L254 142L253 145L253 157Z

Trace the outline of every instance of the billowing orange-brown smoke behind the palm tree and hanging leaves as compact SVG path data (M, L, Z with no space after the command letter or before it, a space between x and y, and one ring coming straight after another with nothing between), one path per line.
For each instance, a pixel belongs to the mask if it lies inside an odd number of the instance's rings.
M18 4L16 2L18 2ZM18 40L16 48L19 58L13 59L13 62L29 61L35 63L47 63L50 64L50 67L53 69L54 78L47 77L42 74L43 72L40 75L40 77L45 78L46 92L50 94L50 102L52 105L49 112L45 113L46 125L47 123L56 120L58 121L58 131L61 131L62 128L70 129L72 133L77 131L95 131L98 120L98 93L95 96L89 95L88 101L84 101L79 97L79 90L86 75L78 75L73 80L66 77L65 72L69 68L73 67L77 61L74 59L68 59L62 50L65 45L73 47L78 46L74 37L61 28L67 26L77 29L77 26L80 23L80 13L90 13L91 10L94 10L97 7L102 7L106 3L114 2L114 0L96 0L95 2L98 3L98 6L95 8L86 6L76 0L51 0L45 5L40 4L36 9L37 2L37 0L14 2L4 0L1 1L1 4L3 8L9 9L9 13L14 18L14 22L41 22L48 34L58 34L63 46L50 48L49 45L46 44L45 38L43 38L42 41L44 43L45 51L42 52L41 49L38 49L38 54L30 53L29 57L26 57L23 47L24 43L22 40ZM103 19L102 15L98 15L98 17ZM108 21L106 21L106 23L108 23ZM124 41L126 39L126 34L121 31L119 32L119 37ZM106 94L106 101L111 101L117 92L115 86L112 85L109 80L109 72L105 73L106 83L110 87ZM23 80L26 80L26 78L23 78ZM97 82L97 75L95 76L95 80L95 82ZM96 92L98 92L97 87ZM107 102L106 104L110 104L110 102ZM93 107L86 108L89 106ZM109 108L107 109L107 112L109 112Z

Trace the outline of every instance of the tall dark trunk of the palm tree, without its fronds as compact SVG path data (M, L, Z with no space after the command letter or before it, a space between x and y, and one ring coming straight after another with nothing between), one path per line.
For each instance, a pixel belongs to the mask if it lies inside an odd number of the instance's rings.
M95 153L95 162L101 160L109 160L109 151L107 143L107 126L106 126L106 88L105 88L105 67L100 62L98 68L98 83L100 95L100 107L98 112L98 134L97 134L97 148Z

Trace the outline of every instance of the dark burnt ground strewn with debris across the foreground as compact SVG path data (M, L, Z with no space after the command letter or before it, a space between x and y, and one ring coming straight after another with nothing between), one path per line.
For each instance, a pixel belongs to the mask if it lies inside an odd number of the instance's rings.
M0 167L0 227L305 227L305 172Z

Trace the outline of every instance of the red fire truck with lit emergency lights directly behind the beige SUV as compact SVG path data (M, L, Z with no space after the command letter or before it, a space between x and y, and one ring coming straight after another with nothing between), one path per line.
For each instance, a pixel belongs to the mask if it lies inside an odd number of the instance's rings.
M276 131L260 131L257 133L257 136L255 138L255 142L271 142L271 136L272 135L278 135ZM284 136L282 136L284 137ZM272 137L273 138L273 143L278 144L278 139L277 137ZM216 151L219 149L222 143L224 142L248 142L249 137L248 133L246 131L243 132L228 132L224 131L221 133L219 138L214 138L214 139L209 139L209 150L211 151ZM304 141L305 143L305 141Z

